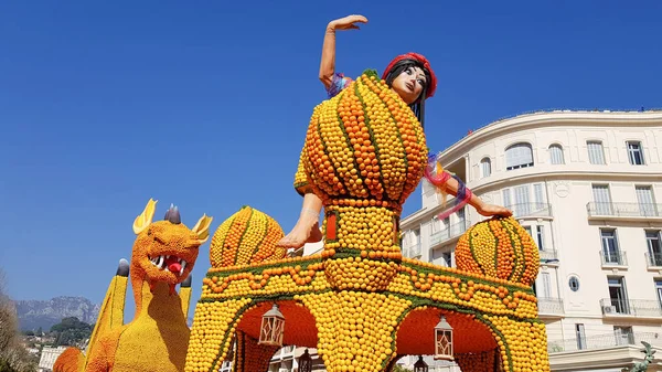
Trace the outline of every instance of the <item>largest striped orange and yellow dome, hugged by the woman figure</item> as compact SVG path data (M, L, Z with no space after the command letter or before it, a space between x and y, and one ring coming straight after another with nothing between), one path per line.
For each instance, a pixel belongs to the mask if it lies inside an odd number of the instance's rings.
M416 189L426 159L418 119L374 71L314 108L301 155L305 177L325 203L399 205Z

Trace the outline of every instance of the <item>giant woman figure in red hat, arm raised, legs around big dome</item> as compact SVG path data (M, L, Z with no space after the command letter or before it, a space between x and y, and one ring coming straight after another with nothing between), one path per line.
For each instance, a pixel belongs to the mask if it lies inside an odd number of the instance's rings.
M335 97L353 83L351 78L345 77L343 74L335 73L335 31L359 29L355 23L367 23L367 19L363 15L349 15L331 21L327 26L319 78L324 84L329 98ZM386 66L386 70L382 74L382 79L391 91L396 93L396 97L412 109L423 129L425 100L433 97L437 89L437 77L427 59L417 53L398 55ZM423 132L420 135L424 136ZM369 146L367 150L374 149ZM427 148L425 148L425 151L427 151ZM450 193L457 196L456 205L452 211L457 211L463 204L469 203L484 216L509 216L512 214L511 211L505 208L485 204L480 198L473 195L459 178L451 177L448 172L439 169L440 164L436 164L435 157L430 157L427 161L428 167L424 172L424 176L426 176L440 192ZM425 164L420 166L421 169L425 168ZM438 169L439 171L435 172L435 169ZM362 171L364 171L364 174L369 173L365 172L365 169L362 169ZM419 178L416 179L416 183L418 180ZM322 240L322 233L319 228L319 214L323 202L310 187L301 163L299 164L299 171L295 183L297 191L303 195L303 205L297 224L289 234L278 242L278 245L282 247L299 248L306 243L314 243ZM415 187L416 185L414 185L414 188ZM404 202L404 199L402 202Z

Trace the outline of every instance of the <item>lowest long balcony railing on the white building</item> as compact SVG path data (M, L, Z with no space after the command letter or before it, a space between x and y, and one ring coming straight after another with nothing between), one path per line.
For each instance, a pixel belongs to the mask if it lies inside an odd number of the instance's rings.
M655 332L612 332L591 337L576 337L565 340L549 340L547 351L549 353L576 350L594 350L613 348L620 346L641 347L641 341L660 347L662 339Z

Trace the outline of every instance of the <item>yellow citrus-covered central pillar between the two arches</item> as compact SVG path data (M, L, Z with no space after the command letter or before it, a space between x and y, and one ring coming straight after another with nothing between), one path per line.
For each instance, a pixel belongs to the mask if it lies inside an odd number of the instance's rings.
M296 296L316 318L318 353L328 372L381 372L395 352L398 319L412 301L376 293Z

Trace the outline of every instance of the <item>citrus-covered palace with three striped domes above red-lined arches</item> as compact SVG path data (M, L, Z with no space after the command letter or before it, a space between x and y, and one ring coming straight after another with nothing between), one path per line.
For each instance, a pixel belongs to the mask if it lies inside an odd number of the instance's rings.
M295 185L322 200L323 251L286 257L280 226L250 206L224 221L185 371L232 360L236 372L264 372L282 346L317 348L329 372L391 371L407 354L465 372L549 371L531 288L538 251L514 219L471 226L457 268L402 256L402 208L427 163L420 124L374 71L318 105Z

